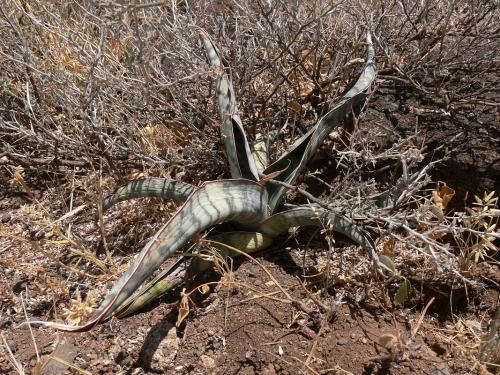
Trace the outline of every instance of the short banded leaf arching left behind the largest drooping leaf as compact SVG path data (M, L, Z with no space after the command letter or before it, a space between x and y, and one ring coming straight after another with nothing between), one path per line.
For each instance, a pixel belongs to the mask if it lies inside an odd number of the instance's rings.
M112 195L104 199L103 210L108 210L118 202L134 198L158 197L184 202L195 190L195 186L185 182L148 177L131 181L118 188Z

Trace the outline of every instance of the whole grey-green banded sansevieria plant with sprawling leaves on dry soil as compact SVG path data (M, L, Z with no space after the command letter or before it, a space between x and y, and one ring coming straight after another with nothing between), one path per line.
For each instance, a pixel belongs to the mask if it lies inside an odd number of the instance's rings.
M266 165L267 154L263 135L249 144L243 123L238 115L234 90L229 75L208 35L201 31L203 44L212 67L219 70L218 102L222 122L222 137L231 172L231 179L209 181L196 187L162 178L132 181L104 200L104 210L114 204L139 197L160 197L183 202L174 216L148 241L133 260L130 268L115 283L96 313L81 326L55 322L33 321L64 331L86 331L112 316L127 316L155 296L183 282L176 262L152 282L139 289L162 263L193 236L214 227L208 238L228 248L243 252L262 250L290 227L319 226L340 232L366 250L376 261L373 244L368 235L349 219L320 205L295 206L280 210L286 185L293 184L309 159L332 130L340 125L364 102L375 78L374 50L367 34L367 61L358 80L323 116L319 122L274 163ZM220 225L228 223L231 225ZM231 228L228 231L227 228ZM237 228L237 230L233 230ZM221 249L226 256L235 253ZM185 271L196 274L209 263L193 258Z

